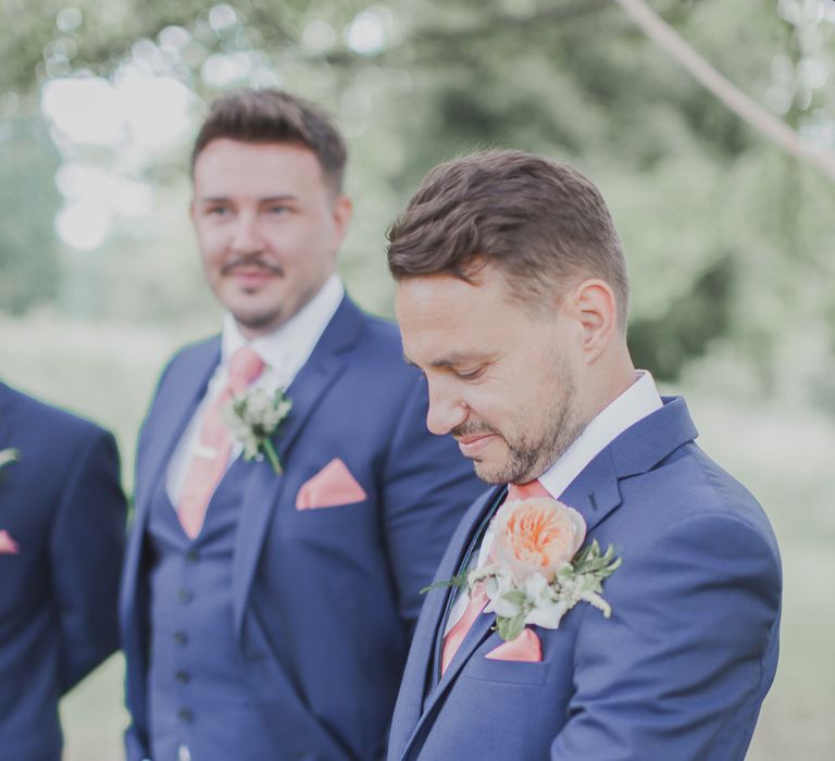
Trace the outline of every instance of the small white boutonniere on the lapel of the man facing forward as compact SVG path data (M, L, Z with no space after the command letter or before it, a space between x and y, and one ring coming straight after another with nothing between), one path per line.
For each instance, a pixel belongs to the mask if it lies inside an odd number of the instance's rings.
M244 460L257 460L263 452L275 473L282 473L282 463L271 437L290 409L292 401L281 388L272 396L262 388L251 388L233 398L224 410L224 416L232 435L244 445Z

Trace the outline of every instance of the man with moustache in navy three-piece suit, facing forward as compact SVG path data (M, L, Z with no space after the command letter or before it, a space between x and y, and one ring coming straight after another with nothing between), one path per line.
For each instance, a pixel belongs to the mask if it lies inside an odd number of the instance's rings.
M197 138L191 217L228 314L169 364L139 440L129 761L383 758L420 589L484 488L426 432L397 327L335 274L345 159L277 91L221 98Z

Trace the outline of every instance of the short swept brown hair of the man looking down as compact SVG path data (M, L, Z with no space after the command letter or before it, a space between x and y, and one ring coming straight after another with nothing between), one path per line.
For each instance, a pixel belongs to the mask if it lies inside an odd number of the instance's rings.
M395 279L448 273L472 282L488 263L528 304L546 288L598 277L626 327L621 240L600 191L571 166L514 150L453 159L429 172L388 240Z

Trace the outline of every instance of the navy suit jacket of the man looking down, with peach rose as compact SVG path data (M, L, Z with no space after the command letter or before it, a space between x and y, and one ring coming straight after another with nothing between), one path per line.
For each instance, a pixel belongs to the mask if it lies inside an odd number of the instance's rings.
M623 564L603 583L610 619L579 603L558 629L531 627L541 662L485 658L501 639L482 614L438 681L448 592L429 592L389 761L744 759L776 669L780 558L759 504L695 437L684 401L665 399L562 495ZM502 496L473 504L438 579Z

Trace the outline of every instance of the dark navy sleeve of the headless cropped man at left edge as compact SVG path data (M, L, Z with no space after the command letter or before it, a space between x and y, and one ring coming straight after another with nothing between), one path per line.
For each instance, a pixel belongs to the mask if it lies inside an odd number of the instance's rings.
M78 445L50 537L62 693L119 647L125 517L116 445L110 434L96 429Z

